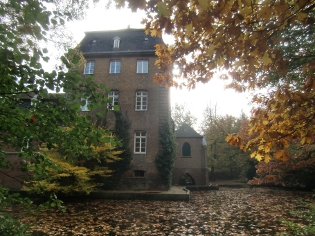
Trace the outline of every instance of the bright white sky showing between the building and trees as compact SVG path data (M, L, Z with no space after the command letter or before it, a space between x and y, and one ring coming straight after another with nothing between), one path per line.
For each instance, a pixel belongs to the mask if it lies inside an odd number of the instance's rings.
M140 23L143 17L142 12L132 13L131 10L116 10L115 8L105 10L99 6L90 9L83 21L71 22L69 28L73 31L78 44L84 37L85 31L117 30L127 28L128 24L130 24L130 28L143 28ZM172 37L168 35L164 35L163 40L165 43L172 43ZM198 129L203 120L202 113L210 102L212 105L217 102L218 114L240 116L242 110L249 114L250 99L246 96L248 95L244 93L224 90L224 81L214 79L207 84L197 84L196 89L191 91L172 88L171 105L186 103L192 114L198 119L198 125L195 126L195 129Z

